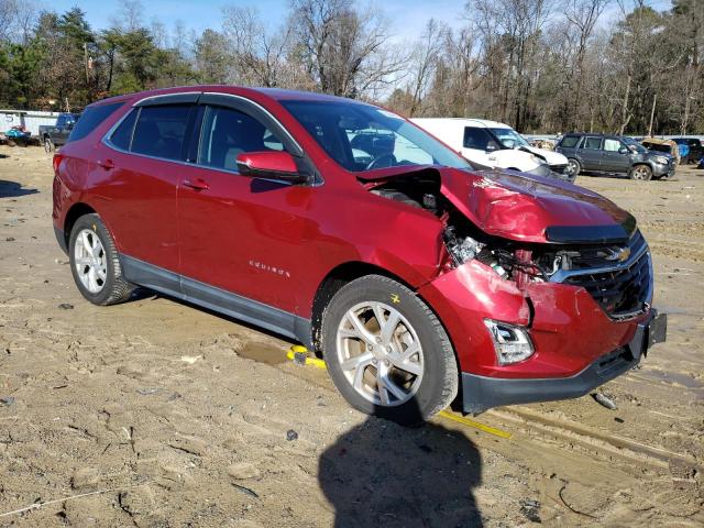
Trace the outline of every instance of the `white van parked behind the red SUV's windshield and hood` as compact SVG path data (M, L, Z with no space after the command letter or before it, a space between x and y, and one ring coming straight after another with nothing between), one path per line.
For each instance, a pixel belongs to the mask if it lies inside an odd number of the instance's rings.
M417 118L411 121L450 145L470 163L570 179L564 175L566 157L530 146L507 124L463 118Z

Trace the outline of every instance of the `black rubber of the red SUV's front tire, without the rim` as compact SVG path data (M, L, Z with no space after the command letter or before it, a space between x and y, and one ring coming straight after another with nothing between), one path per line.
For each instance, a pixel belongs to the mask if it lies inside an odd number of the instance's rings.
M346 311L361 302L394 307L413 327L422 348L422 377L415 395L397 406L366 399L345 377L338 359L338 328ZM458 394L458 363L450 339L436 315L416 294L381 275L367 275L343 286L322 316L322 348L328 372L342 396L358 410L406 426L417 426L448 407Z

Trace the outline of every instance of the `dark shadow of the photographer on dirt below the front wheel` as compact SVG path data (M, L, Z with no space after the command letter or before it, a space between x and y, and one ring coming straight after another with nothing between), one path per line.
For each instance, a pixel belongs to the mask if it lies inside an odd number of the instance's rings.
M322 453L319 468L337 528L482 526L472 493L482 482L480 452L438 424L369 417Z

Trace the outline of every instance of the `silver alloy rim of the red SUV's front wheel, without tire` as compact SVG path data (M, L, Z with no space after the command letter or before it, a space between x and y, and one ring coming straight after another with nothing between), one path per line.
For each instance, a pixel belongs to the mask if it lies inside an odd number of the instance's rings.
M361 302L344 314L336 359L350 385L375 405L405 404L422 382L418 334L398 310L384 302Z

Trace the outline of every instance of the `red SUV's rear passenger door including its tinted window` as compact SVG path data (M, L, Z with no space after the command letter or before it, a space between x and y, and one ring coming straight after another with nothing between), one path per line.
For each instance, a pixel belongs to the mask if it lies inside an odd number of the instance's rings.
M174 273L179 261L176 189L198 96L162 96L138 105L106 139L100 162L110 188L101 209L108 211L119 251ZM145 285L174 287L173 280Z

